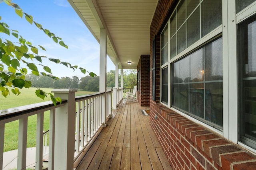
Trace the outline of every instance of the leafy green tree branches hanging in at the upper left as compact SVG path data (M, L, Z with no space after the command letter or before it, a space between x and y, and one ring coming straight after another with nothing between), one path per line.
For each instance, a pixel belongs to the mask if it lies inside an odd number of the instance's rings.
M59 45L68 48L68 46L62 41L62 39L52 33L50 30L43 28L40 23L33 20L31 15L26 14L17 5L12 3L12 0L0 0L0 3L5 2L8 6L14 8L15 13L20 16L20 18L26 19L31 25L34 24L40 30L42 30L48 37L50 37L54 42L59 43ZM1 20L0 16L0 20ZM18 42L12 42L8 39L1 39L0 37L0 91L4 97L10 94L8 88L11 88L13 94L19 95L21 88L30 88L34 86L30 80L25 80L26 74L29 70L32 74L39 76L48 76L52 79L57 80L58 77L53 76L50 67L42 64L42 59L48 59L56 64L63 64L72 70L80 69L82 73L86 74L86 69L78 66L73 66L70 63L60 61L59 59L52 59L46 56L39 55L38 49L46 51L41 45L33 45L31 42L26 41L19 32L15 29L10 29L7 23L0 22L0 33L5 33L7 35L14 36ZM20 63L26 64L27 67L21 67ZM38 66L42 67L45 72L38 71ZM90 76L95 76L93 72L89 72ZM47 94L39 88L36 90L36 96L44 99L46 96L50 96L54 105L56 101L61 102L60 98L54 98L53 94Z

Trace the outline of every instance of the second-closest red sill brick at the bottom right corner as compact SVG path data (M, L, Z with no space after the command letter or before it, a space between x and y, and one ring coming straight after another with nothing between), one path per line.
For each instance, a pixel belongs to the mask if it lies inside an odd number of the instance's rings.
M220 156L220 159L221 159L221 166L224 170L230 170L230 164L233 162L248 161L248 160L256 161L255 156L252 156L247 152L224 154Z

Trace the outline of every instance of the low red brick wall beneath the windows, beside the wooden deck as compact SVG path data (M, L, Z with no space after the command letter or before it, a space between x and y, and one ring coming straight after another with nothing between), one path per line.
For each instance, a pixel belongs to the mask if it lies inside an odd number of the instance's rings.
M174 170L256 169L255 155L162 104L151 107L150 123Z

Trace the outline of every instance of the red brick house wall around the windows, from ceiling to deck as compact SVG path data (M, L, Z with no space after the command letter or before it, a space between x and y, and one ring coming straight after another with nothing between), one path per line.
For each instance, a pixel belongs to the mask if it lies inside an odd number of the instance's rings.
M254 154L160 104L160 31L177 3L174 0L159 0L150 25L150 125L174 170L255 170ZM156 101L152 100L154 38Z

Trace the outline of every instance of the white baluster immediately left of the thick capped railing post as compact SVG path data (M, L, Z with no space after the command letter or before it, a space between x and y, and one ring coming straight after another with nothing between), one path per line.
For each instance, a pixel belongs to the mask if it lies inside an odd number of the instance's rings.
M50 122L49 122L49 170L54 169L54 143L55 143L55 109L50 110Z

